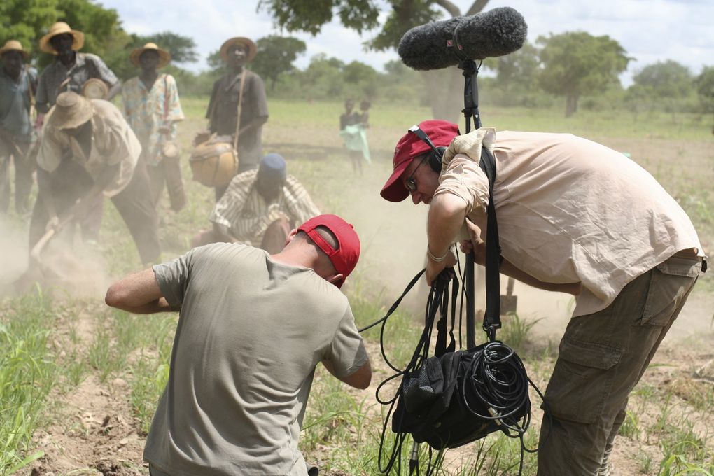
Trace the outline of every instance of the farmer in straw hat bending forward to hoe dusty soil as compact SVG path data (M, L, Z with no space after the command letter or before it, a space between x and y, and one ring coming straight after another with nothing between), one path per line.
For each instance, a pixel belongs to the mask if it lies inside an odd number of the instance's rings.
M124 218L141 262L159 260L156 209L140 154L139 140L114 104L60 93L37 158L39 193L30 221L30 248L49 228L85 216L97 197L106 196Z

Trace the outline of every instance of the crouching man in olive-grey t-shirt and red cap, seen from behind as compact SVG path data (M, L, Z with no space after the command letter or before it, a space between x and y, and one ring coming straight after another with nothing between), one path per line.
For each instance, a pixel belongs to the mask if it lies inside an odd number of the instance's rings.
M216 243L109 288L116 308L180 312L144 450L152 475L308 475L298 437L316 365L356 388L371 380L338 290L359 252L351 225L321 215L276 255Z

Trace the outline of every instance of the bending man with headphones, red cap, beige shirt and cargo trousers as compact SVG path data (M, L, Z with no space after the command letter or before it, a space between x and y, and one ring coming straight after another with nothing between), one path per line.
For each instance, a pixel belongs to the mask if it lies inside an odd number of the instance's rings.
M454 265L457 240L484 264L488 148L501 273L576 296L545 392L538 475L609 474L628 395L706 270L689 217L645 169L584 138L418 127L443 157L406 133L381 196L430 206L427 282Z

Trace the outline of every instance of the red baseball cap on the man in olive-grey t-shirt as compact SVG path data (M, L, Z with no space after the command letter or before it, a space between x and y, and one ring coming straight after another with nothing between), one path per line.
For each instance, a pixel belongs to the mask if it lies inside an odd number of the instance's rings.
M324 226L337 238L338 249L332 248L320 233L316 231L318 226ZM323 250L338 273L347 278L357 265L360 253L359 236L354 231L354 227L336 215L318 215L298 227L298 231L303 231ZM341 288L345 280L343 279L336 286Z

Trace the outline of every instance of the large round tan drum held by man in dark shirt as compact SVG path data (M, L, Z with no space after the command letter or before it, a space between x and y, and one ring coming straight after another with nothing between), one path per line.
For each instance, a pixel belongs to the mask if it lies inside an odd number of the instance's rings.
M238 153L229 142L206 141L191 153L193 180L208 187L228 185L238 171Z

